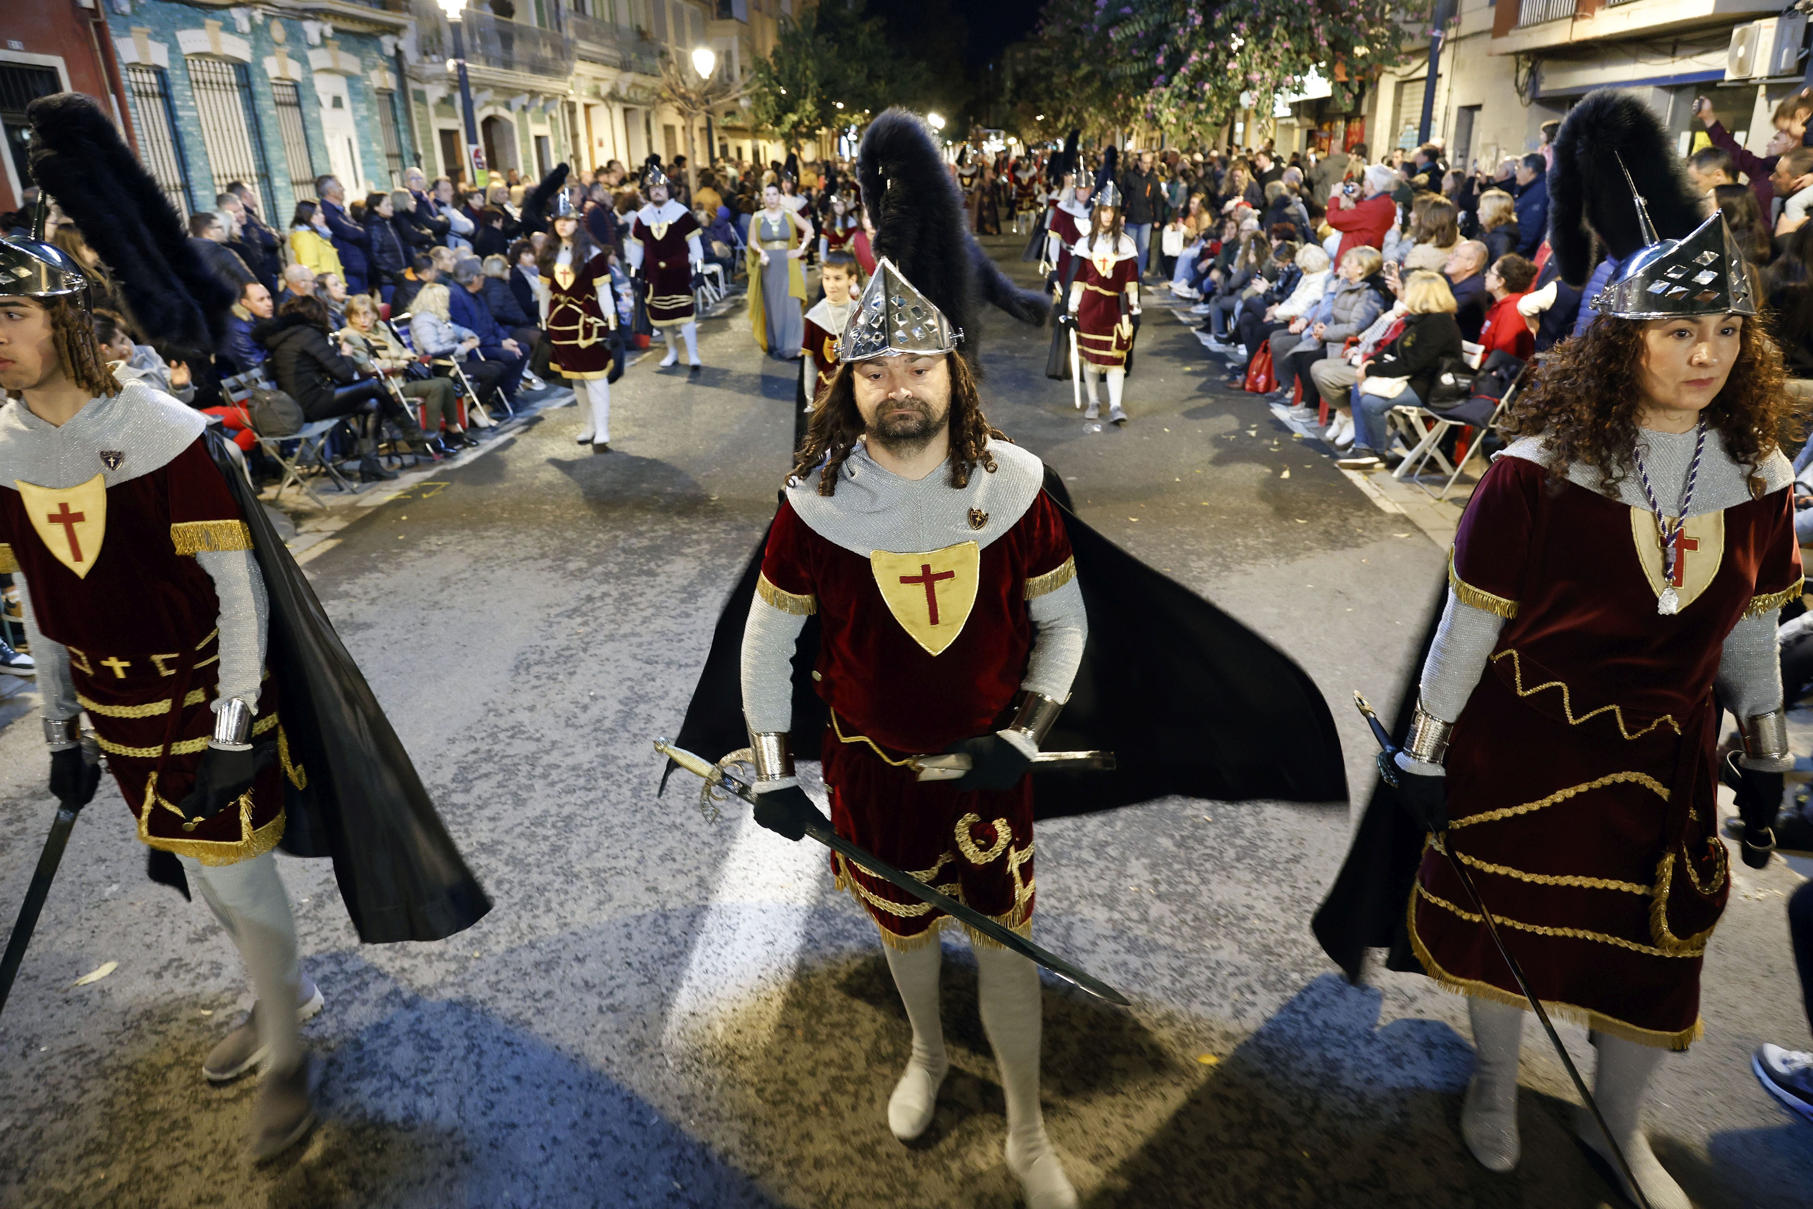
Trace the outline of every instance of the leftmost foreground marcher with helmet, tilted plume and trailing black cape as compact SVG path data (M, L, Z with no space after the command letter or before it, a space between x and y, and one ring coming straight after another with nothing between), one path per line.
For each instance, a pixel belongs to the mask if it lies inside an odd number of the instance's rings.
M234 288L87 96L34 100L31 174L160 343L225 346ZM301 972L272 850L332 856L366 943L431 941L490 910L402 745L265 515L238 448L94 341L89 281L45 243L0 239L0 571L38 663L51 792L85 805L87 714L156 881L190 883L239 950L252 1015L201 1062L263 1068L250 1153L315 1124Z

